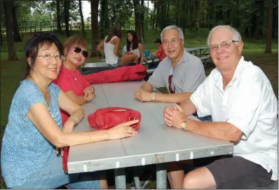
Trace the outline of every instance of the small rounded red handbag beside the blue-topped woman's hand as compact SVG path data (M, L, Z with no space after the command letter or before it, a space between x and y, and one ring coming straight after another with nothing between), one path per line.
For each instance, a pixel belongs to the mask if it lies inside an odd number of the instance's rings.
M125 107L106 107L97 109L93 114L90 114L88 116L88 123L94 128L107 130L118 124L138 119L139 122L131 125L132 128L138 130L140 128L141 118L140 112L133 109Z

